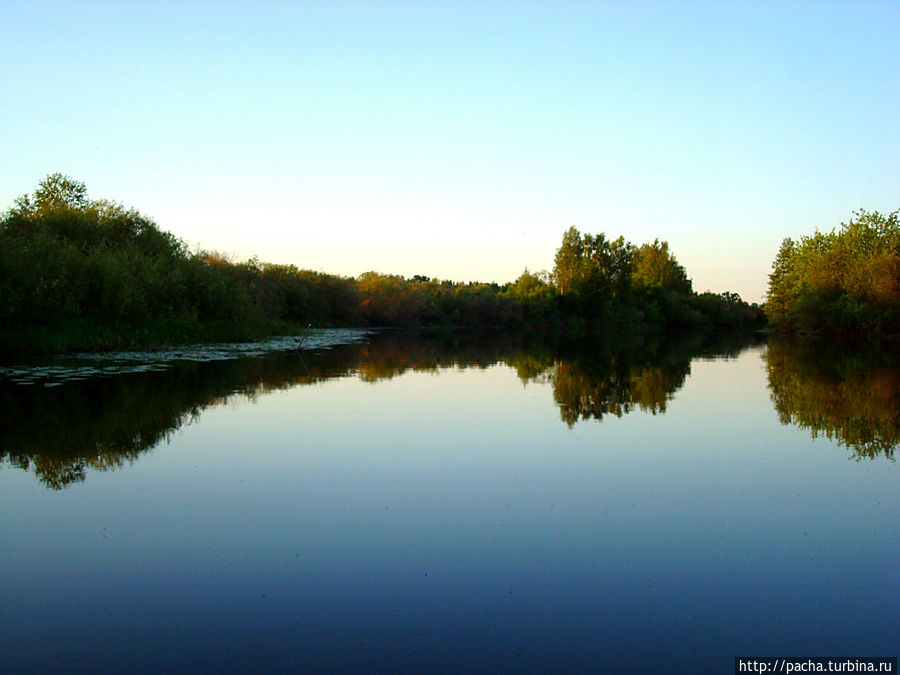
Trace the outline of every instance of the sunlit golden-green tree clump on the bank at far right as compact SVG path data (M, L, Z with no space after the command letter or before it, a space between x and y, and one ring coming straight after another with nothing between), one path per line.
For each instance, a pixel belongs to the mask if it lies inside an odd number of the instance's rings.
M765 309L786 333L900 337L900 220L859 211L840 231L785 239Z

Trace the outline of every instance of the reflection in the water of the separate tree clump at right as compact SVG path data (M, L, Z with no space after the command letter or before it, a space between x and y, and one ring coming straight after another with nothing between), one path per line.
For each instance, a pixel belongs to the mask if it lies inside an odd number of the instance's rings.
M772 401L783 424L852 451L894 459L900 443L900 363L883 352L773 342L766 352Z

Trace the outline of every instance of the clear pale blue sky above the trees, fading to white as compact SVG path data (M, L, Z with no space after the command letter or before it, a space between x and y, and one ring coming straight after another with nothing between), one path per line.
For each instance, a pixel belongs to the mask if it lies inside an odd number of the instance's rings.
M563 232L763 299L900 208L900 2L0 1L0 209L61 171L191 246L510 281Z

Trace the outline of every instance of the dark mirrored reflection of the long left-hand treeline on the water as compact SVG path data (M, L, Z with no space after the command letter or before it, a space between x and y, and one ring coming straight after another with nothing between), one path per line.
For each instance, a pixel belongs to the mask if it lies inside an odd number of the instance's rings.
M171 360L166 368L132 368L114 376L23 386L0 380L0 462L32 471L48 488L84 481L140 455L232 397L357 376L377 382L407 371L487 368L504 363L523 383L553 388L562 420L654 414L684 384L691 359L737 354L746 340L696 336L626 344L556 343L509 334L460 331L385 332L366 342L309 352L278 351L230 360Z

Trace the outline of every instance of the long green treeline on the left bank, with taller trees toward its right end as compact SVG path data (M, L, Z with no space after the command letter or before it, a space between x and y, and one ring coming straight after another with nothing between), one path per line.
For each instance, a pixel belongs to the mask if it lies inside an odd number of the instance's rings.
M245 339L316 326L460 326L563 332L745 328L761 308L696 294L665 242L564 235L552 273L458 283L358 278L191 252L150 218L90 200L61 174L0 218L0 347L59 351Z

